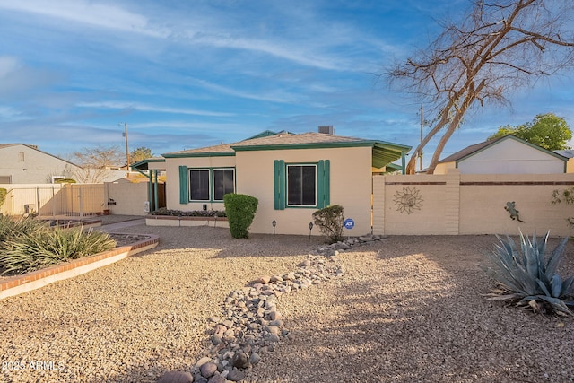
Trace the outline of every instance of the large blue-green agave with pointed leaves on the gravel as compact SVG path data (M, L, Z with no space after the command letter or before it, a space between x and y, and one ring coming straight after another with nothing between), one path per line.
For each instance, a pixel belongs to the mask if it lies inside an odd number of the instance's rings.
M489 254L492 265L481 265L502 287L488 294L489 299L516 300L518 306L538 311L550 305L557 313L574 315L569 308L574 307L574 276L562 280L556 274L568 238L545 257L549 234L537 239L535 232L530 239L520 232L520 249L508 235L506 240L496 236L500 245L495 244L496 250Z

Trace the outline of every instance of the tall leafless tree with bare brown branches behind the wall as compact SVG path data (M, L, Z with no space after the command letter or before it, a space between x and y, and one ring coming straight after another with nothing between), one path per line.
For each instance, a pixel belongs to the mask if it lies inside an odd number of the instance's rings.
M446 22L425 50L390 71L391 84L431 104L437 122L406 167L434 135L446 128L427 173L432 174L450 136L474 106L507 104L509 91L574 65L574 2L565 0L473 0L459 25Z

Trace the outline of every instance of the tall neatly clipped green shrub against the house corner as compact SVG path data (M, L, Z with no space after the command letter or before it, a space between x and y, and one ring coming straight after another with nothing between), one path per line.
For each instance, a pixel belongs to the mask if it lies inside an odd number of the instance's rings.
M231 237L248 238L248 228L255 217L258 202L256 197L244 194L230 193L223 196Z

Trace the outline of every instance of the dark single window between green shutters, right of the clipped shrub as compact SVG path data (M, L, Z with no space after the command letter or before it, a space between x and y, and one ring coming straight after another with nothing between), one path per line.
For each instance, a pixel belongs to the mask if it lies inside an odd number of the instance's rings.
M317 205L315 172L313 165L291 165L287 167L288 205Z

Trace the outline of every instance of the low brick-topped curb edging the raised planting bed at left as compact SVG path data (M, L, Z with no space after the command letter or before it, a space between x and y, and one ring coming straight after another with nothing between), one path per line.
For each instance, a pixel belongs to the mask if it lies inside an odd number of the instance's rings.
M49 283L88 273L101 266L110 265L120 259L133 256L150 248L155 248L160 243L159 236L154 234L145 235L150 238L140 240L132 245L104 251L90 257L74 259L63 264L50 266L27 274L15 275L2 280L0 281L0 300L22 292L30 292ZM116 259L110 259L112 257L116 257ZM94 265L96 263L100 263L100 265Z

